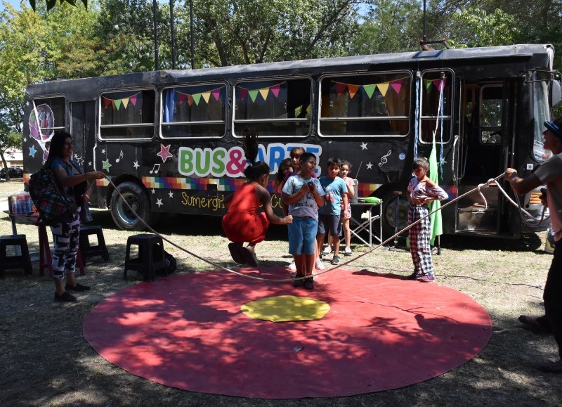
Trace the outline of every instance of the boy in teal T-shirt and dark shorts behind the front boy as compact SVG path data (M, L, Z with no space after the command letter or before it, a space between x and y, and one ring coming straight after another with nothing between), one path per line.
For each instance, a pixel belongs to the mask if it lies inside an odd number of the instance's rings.
M329 233L328 245L334 247L332 264L339 264L339 237L341 236L341 202L344 202L344 213L347 211L347 185L346 181L338 176L341 160L329 158L327 175L321 176L318 181L324 188L324 205L318 208L318 252L322 252L324 236ZM330 241L331 240L331 241Z

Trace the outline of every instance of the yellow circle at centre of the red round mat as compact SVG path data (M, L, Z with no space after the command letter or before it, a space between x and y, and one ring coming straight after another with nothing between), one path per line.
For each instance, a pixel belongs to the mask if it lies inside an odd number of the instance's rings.
M329 305L318 299L280 295L247 302L240 311L250 318L272 322L311 321L325 316Z

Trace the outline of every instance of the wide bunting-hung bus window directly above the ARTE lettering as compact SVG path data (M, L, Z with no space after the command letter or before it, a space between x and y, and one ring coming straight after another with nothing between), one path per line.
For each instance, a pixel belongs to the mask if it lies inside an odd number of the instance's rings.
M234 134L250 127L260 137L308 136L311 79L238 82L234 89Z

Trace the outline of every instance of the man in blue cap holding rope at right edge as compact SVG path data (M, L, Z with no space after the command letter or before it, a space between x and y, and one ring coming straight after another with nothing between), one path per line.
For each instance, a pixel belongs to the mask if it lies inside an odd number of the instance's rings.
M560 358L541 368L550 373L562 373L562 117L558 117L554 122L544 122L544 126L547 127L542 132L544 149L550 150L553 156L525 178L517 176L517 171L513 168L506 170L505 177L519 195L547 184L547 195L542 197L542 202L549 207L555 243L554 257L542 298L550 328L558 344Z

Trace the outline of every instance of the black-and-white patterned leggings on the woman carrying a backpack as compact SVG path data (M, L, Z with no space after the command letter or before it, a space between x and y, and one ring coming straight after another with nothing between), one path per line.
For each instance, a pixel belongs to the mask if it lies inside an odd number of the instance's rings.
M63 280L65 273L74 273L80 238L80 217L74 214L70 222L51 226L53 233L53 278Z

